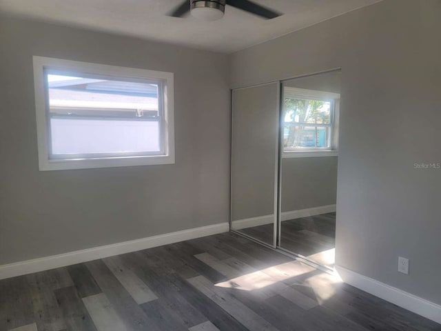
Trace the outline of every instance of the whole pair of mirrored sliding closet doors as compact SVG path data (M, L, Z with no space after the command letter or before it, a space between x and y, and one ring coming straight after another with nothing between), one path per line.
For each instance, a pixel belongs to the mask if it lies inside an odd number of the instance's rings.
M232 94L231 229L332 268L340 70Z

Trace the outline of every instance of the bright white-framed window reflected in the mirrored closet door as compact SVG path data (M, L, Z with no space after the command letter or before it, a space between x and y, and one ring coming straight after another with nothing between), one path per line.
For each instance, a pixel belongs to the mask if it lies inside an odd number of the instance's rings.
M283 156L336 155L340 94L284 88Z

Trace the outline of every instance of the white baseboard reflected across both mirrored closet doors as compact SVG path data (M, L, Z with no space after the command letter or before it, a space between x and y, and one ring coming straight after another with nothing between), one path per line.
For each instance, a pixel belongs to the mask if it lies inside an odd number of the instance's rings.
M320 205L319 207L306 208L300 210L291 210L290 212L282 212L280 215L282 221L289 221L290 219L300 219L302 217L326 214L327 212L335 212L336 205ZM240 230L252 228L253 226L265 225L274 223L274 215L265 215L259 217L251 217L249 219L238 219L233 221L233 229Z

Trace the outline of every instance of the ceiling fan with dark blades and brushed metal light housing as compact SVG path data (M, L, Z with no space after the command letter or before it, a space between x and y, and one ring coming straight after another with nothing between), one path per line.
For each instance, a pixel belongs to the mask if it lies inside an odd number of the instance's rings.
M249 0L185 0L168 16L183 17L187 12L191 12L192 16L203 21L215 21L223 17L226 5L251 12L264 19L274 19L282 15Z

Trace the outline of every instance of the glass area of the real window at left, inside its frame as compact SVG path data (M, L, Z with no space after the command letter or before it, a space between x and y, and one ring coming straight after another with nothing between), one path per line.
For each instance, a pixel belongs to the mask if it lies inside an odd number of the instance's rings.
M159 82L46 77L52 155L161 152Z

